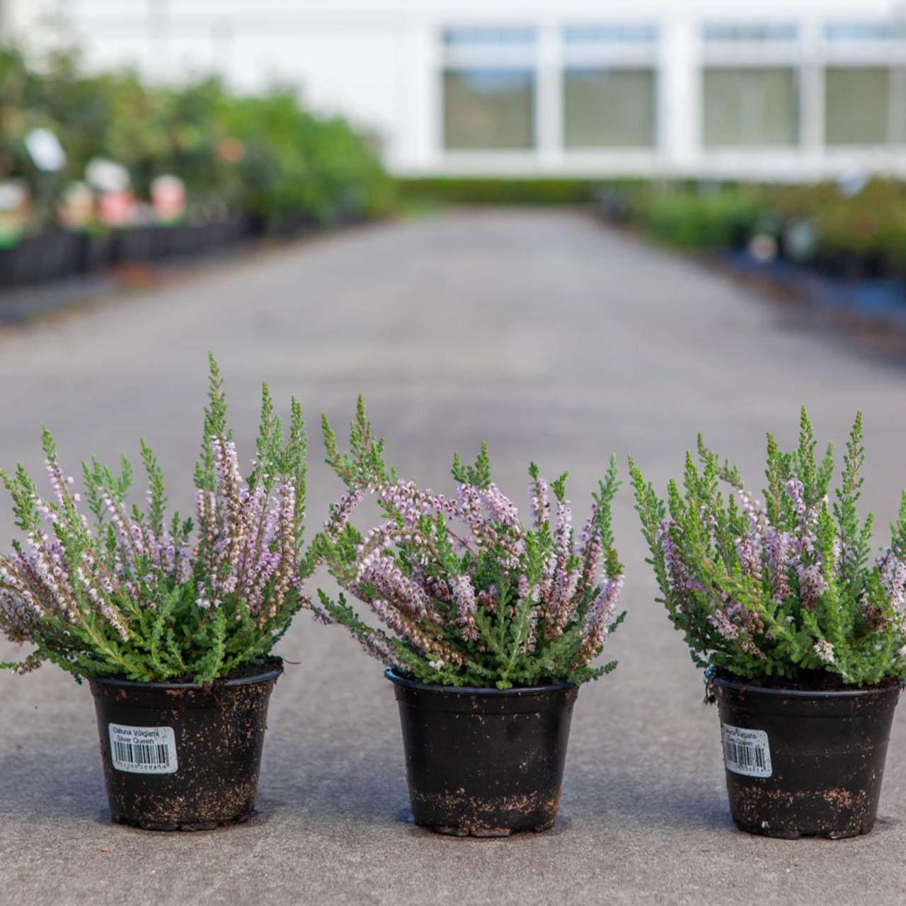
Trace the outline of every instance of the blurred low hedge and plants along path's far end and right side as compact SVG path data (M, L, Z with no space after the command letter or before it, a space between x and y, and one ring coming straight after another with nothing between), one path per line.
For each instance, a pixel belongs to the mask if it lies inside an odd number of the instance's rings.
M750 248L845 275L906 275L906 183L851 177L839 183L755 185L627 178L404 179L410 202L591 204L665 245Z

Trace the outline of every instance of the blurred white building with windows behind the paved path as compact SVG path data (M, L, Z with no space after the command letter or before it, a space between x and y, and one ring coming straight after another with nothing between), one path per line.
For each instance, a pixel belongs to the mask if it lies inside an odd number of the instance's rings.
M894 0L6 0L96 67L289 84L407 175L906 173Z

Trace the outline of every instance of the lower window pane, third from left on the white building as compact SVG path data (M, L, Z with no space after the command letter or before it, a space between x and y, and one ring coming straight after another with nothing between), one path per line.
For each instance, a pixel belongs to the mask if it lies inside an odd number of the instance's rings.
M795 71L785 67L704 72L706 148L771 148L799 140Z

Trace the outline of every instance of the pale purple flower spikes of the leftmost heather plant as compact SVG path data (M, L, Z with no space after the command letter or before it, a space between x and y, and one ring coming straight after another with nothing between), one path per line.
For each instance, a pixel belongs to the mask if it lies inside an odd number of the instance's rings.
M143 611L154 611L162 594L186 583L194 583L203 611L232 596L259 625L273 618L291 590L299 591L296 490L285 481L272 491L248 487L232 442L214 439L211 451L217 487L196 494L194 547L181 529L173 535L166 523L152 525L130 509L110 485L94 488L101 523L92 530L79 512L81 496L70 490L72 478L48 459L53 499L32 492L37 517L24 545L0 556L0 623L7 634L34 641L41 618L85 627L93 613L128 640Z

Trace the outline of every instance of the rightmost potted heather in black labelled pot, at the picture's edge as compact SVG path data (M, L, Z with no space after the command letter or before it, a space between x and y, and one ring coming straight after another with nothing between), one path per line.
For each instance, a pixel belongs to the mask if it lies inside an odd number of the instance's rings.
M872 560L872 516L857 510L862 415L833 503L833 450L817 461L805 409L800 425L793 453L767 437L764 505L700 436L701 467L687 454L666 504L632 461L631 477L660 601L718 702L733 820L849 837L872 829L906 678L906 496Z

